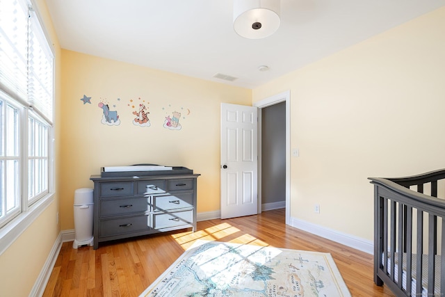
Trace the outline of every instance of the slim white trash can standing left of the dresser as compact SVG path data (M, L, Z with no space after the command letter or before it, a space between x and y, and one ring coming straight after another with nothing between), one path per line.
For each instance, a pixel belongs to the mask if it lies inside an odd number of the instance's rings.
M92 188L78 188L74 192L74 229L76 239L73 248L79 246L93 246L92 236Z

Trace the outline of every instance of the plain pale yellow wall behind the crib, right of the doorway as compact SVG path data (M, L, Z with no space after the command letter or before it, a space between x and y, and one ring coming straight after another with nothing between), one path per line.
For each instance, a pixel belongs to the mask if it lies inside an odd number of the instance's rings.
M293 218L372 240L366 178L445 167L444 36L441 8L252 91L291 90Z

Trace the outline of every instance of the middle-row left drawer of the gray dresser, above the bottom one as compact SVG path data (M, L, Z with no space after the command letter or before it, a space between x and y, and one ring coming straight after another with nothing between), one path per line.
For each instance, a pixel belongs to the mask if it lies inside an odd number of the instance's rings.
M120 216L149 211L147 198L105 199L99 201L99 216Z

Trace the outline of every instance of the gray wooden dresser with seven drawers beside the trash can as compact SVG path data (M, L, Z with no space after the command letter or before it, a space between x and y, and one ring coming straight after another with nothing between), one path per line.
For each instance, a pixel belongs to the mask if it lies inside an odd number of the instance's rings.
M161 172L92 175L94 248L99 242L191 227L196 230L199 174L184 167Z

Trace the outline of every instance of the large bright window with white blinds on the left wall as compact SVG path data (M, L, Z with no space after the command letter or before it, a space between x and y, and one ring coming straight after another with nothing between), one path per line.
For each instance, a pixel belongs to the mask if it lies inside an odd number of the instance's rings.
M54 54L32 3L0 0L0 227L52 186Z

